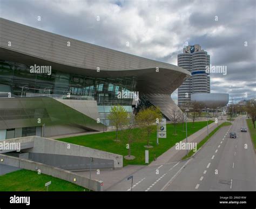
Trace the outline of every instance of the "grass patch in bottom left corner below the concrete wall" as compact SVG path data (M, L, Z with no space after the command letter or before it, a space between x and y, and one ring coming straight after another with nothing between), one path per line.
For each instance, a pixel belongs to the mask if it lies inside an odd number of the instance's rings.
M51 181L48 191L88 191L87 188L69 181L29 170L18 170L0 176L0 191L46 191L45 183L48 181Z

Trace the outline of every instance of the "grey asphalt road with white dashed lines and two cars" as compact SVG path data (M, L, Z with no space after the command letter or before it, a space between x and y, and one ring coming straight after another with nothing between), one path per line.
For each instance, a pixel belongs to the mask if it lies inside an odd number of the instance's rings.
M246 118L222 127L193 157L185 161L149 165L133 173L133 191L256 191L256 158ZM237 139L229 133L236 132ZM247 149L245 149L247 144ZM131 191L126 178L107 191Z

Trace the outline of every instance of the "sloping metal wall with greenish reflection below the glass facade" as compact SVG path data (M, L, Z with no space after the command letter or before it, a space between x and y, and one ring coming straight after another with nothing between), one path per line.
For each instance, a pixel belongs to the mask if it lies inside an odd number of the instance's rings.
M50 97L0 99L0 111L0 121L4 122L1 129L70 124L84 130L103 130L95 119Z

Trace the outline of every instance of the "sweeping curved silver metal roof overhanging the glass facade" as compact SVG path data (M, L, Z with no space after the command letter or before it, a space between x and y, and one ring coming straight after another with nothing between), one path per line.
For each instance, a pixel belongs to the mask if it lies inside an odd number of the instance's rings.
M52 69L93 77L134 76L137 91L143 93L171 94L191 76L190 72L176 65L107 49L3 18L0 18L0 55L1 59L28 65L51 65ZM98 67L100 72L96 71Z

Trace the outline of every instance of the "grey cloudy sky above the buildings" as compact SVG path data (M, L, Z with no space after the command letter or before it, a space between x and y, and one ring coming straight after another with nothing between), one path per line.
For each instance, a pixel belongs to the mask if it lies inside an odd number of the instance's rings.
M211 75L211 92L230 93L235 102L245 93L255 98L255 5L255 0L0 0L0 17L175 65L186 43L200 44L212 65L227 66L227 75Z

